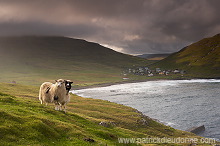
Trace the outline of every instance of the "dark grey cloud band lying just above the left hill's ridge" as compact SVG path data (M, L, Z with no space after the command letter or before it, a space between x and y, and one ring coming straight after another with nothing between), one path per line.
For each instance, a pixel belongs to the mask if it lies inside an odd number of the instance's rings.
M42 22L21 22L21 23L0 23L1 36L18 35L54 35L54 36L72 36L90 37L100 28L94 25L73 24L56 25Z

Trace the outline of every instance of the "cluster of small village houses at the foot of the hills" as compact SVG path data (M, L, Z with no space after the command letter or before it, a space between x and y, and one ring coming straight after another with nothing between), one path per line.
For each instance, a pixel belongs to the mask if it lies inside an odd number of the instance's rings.
M123 72L124 76L128 74L138 75L138 76L148 76L153 77L156 75L174 75L174 74L186 74L185 70L174 69L174 70L163 70L161 68L150 69L149 67L136 67L136 68L128 68Z

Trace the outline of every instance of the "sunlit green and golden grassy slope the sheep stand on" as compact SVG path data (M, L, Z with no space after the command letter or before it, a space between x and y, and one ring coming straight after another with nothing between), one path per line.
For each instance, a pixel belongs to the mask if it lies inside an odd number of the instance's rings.
M197 137L108 101L72 95L64 114L40 105L37 96L35 86L0 83L1 145L118 145L120 137ZM101 121L113 124L104 127Z

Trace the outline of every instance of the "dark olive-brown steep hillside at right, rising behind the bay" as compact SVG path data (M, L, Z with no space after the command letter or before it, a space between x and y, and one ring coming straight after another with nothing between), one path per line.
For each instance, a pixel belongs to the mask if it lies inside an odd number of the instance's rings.
M186 70L192 77L220 78L220 34L193 43L152 66Z

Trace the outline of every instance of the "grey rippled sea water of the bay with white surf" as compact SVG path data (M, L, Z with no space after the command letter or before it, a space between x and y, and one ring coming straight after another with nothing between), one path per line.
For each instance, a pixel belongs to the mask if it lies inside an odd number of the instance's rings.
M127 105L173 128L205 125L201 136L220 139L220 80L160 80L72 91Z

